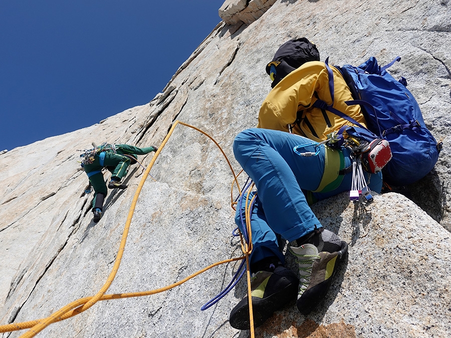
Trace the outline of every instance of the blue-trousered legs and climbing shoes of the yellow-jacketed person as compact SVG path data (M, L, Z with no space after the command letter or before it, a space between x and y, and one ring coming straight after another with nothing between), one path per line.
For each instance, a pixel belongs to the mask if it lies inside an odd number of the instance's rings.
M307 197L322 200L351 188L352 172L338 175L351 164L348 149L333 150L320 146L316 156L300 156L293 151L312 141L277 130L248 129L235 138L234 154L255 182L258 196L251 214L253 250L250 257L254 325L257 327L275 310L294 300L303 314L309 313L325 296L335 264L347 251L347 244L336 234L324 229L310 209ZM305 147L316 152L316 146ZM317 190L326 170L326 161L339 156L336 179L330 191ZM380 174L366 174L371 190L380 192ZM309 192L309 193L308 193ZM236 222L241 228L240 210ZM242 229L243 231L243 229ZM277 235L297 246L291 247L299 263L299 288L296 274L284 266ZM249 329L248 297L243 298L230 314L230 324Z

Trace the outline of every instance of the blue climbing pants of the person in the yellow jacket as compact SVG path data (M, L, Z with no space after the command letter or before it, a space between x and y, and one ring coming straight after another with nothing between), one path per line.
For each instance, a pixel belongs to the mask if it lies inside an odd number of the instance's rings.
M299 135L269 129L247 129L237 135L234 154L258 190L251 215L253 251L251 264L263 258L278 256L284 262L276 234L288 241L296 240L322 227L306 200L307 191L316 190L325 165L325 148L316 156L300 156L293 151L298 145L316 144ZM301 152L315 152L314 145ZM343 149L344 167L351 165L349 150ZM371 190L380 192L381 174L367 174ZM329 192L313 193L316 200L337 195L351 189L352 173L343 176L340 185ZM253 193L254 194L254 193ZM252 196L251 196L252 197ZM243 231L242 208L237 207L235 220ZM244 226L246 226L244 224Z

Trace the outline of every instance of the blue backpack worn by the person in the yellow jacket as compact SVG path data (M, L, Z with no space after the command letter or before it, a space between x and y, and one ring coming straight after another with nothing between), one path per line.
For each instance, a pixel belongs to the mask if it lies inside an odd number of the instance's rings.
M390 144L392 159L382 169L384 181L403 186L423 178L435 165L441 143L426 128L421 111L404 78L396 81L385 70L401 58L380 67L371 57L358 67L337 67L354 101L365 116L368 129Z

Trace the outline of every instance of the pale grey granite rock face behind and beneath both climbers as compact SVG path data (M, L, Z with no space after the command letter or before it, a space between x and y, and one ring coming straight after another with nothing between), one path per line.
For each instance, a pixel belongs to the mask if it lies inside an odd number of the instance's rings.
M254 20L238 17L246 10ZM213 137L238 173L233 140L257 125L271 89L265 66L282 43L305 36L331 64L360 64L370 56L383 64L401 56L389 71L407 79L426 125L444 147L434 170L408 187L410 199L389 193L354 204L344 193L314 205L322 224L349 243L349 255L315 311L303 316L293 302L256 336L450 336L451 3L227 1L219 12L224 21L149 104L0 153L0 324L44 318L92 296L111 272L144 170L130 168L129 188L109 192L104 217L95 224L77 150L104 141L160 146L179 120ZM147 166L153 156L139 161ZM207 136L177 125L150 175L107 293L164 287L242 254L232 236L233 174ZM290 255L287 263L295 267ZM246 294L245 280L200 310L228 285L238 264L216 266L161 293L100 301L38 336L247 337L228 323Z

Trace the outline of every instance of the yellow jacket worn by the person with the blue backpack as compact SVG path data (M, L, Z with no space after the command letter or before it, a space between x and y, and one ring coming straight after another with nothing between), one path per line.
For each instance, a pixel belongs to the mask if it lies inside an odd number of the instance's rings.
M353 100L340 72L329 66L334 75L333 107L366 127L366 121L358 105L348 106L344 102ZM324 62L307 62L287 75L268 94L260 108L258 128L289 131L314 141L327 139L327 135L349 121L312 104L319 98L332 104L329 76Z

